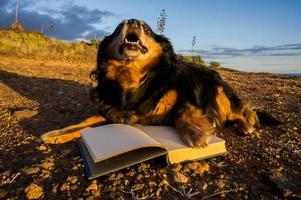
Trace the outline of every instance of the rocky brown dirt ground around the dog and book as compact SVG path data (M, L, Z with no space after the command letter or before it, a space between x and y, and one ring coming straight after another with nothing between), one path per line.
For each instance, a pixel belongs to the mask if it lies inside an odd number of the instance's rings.
M245 102L283 123L254 136L226 128L224 156L153 160L89 181L76 141L39 136L96 114L94 65L0 57L0 199L301 199L301 78L220 69Z

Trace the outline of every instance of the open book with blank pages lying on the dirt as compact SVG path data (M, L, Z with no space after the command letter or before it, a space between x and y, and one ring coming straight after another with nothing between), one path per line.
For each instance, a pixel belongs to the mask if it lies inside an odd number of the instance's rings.
M225 141L216 136L205 148L191 148L168 126L99 126L82 131L79 144L89 179L159 156L173 164L226 152Z

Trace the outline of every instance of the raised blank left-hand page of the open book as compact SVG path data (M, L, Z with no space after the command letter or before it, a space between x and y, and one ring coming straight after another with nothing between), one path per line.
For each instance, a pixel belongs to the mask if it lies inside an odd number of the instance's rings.
M94 162L142 147L162 145L143 131L127 124L109 124L81 132Z

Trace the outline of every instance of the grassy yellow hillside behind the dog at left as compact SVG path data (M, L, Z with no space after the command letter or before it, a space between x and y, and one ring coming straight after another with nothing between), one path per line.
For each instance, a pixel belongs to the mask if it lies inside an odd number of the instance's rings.
M96 48L48 38L36 32L0 29L0 56L95 61Z

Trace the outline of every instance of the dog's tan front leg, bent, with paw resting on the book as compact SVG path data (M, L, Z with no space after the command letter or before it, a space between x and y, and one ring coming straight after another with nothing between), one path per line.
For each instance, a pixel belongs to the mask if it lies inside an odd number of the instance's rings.
M212 137L213 128L202 111L191 105L185 105L175 120L175 126L181 138L191 147L204 147Z

